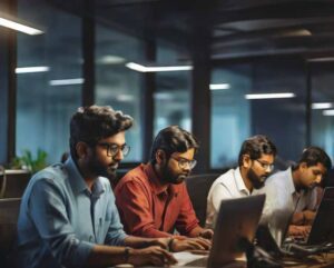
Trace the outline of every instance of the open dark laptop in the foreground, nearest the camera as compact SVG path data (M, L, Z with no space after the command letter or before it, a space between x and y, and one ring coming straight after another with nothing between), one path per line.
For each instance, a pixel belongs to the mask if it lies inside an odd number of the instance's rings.
M264 201L265 195L223 200L209 256L205 258L193 255L191 259L188 252L176 254L178 266L245 267L245 251L255 237ZM188 261L183 261L183 258ZM243 260L236 261L240 259Z

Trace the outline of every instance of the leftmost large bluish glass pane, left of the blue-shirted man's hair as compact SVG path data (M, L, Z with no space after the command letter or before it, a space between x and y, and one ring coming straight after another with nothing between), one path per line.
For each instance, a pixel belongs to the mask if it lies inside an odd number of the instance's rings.
M48 161L69 150L69 120L81 103L81 85L52 86L50 80L81 78L81 20L42 2L18 1L18 16L47 29L18 33L18 67L47 67L17 73L17 155L40 148ZM37 7L38 6L38 7Z

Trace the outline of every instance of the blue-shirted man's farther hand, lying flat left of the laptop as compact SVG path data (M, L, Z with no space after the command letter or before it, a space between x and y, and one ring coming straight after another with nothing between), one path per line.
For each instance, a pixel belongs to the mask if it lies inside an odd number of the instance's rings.
M171 251L184 250L209 250L212 242L205 238L186 238L186 239L173 239L169 245Z

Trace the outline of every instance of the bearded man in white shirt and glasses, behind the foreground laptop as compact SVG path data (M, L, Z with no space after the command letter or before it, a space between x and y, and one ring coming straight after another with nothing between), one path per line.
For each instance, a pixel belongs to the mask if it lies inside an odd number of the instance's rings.
M247 197L254 189L264 186L273 170L276 156L275 145L265 136L246 139L240 148L238 168L218 177L207 197L206 226L214 228L220 202L224 199Z

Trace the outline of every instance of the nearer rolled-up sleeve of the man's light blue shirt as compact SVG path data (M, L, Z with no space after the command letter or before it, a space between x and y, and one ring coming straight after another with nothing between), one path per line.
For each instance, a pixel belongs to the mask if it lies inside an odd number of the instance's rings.
M84 267L94 244L77 238L69 221L65 195L51 179L33 185L28 211L51 255L66 267Z

